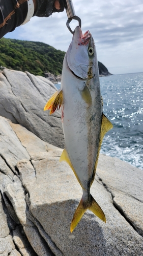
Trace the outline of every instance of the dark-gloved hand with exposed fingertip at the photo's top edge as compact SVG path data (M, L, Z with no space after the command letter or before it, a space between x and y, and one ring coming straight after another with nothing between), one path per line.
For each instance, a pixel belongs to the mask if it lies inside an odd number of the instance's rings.
M53 12L63 12L64 0L33 0L35 5L34 16L48 17Z

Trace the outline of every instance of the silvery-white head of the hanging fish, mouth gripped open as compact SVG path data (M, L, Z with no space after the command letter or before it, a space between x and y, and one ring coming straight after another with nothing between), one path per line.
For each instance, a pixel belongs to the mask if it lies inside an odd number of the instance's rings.
M79 26L67 51L67 63L72 73L81 79L91 79L95 76L97 57L94 39L88 30L82 34Z

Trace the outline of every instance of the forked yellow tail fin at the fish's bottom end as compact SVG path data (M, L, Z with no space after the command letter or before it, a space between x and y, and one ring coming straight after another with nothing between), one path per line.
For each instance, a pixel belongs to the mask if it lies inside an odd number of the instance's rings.
M84 200L84 197L82 196L71 222L71 227L70 227L71 232L77 226L78 222L81 220L84 212L87 209L91 210L96 216L98 216L102 221L106 223L104 212L101 209L101 207L98 205L98 203L95 201L95 199L92 197L92 195L91 194L89 195L88 200Z

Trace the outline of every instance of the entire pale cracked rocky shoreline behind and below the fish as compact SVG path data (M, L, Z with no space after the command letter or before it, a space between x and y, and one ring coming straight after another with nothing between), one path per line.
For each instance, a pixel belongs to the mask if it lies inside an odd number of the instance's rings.
M70 223L82 195L64 147L60 113L43 112L54 85L44 77L0 73L0 256L142 255L142 170L100 155L91 193L106 224L85 212Z

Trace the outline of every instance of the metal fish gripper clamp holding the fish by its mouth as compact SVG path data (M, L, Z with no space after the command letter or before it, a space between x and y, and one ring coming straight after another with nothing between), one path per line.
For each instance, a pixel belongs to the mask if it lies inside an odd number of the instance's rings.
M68 30L74 34L74 31L72 31L72 29L70 28L70 22L72 21L72 19L75 19L78 21L79 27L81 28L81 19L75 15L75 11L74 11L74 7L72 4L72 0L66 0L66 12L67 12L67 16L68 16L68 20L67 20L67 28Z

